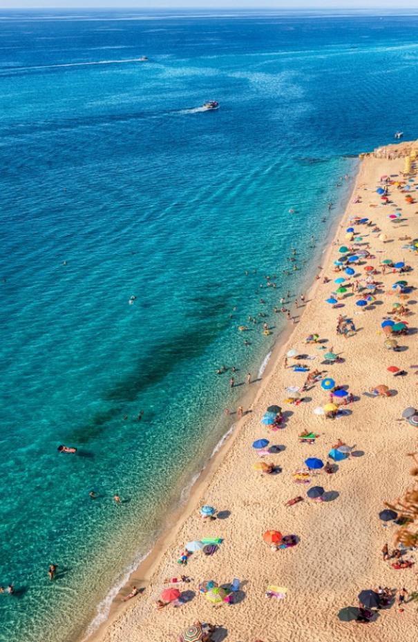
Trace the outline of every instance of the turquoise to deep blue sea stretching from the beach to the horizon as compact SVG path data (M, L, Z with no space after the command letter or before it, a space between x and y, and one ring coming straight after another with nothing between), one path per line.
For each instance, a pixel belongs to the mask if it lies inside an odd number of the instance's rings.
M16 587L1 642L82 635L149 550L243 389L216 368L256 376L274 304L312 279L310 237L341 213L350 155L417 137L417 29L0 14L0 583ZM245 347L237 327L261 310L272 337L260 323Z

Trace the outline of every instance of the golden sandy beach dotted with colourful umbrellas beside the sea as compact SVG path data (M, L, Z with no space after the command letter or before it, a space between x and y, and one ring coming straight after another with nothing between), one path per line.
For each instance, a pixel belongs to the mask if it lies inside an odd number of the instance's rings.
M403 143L381 148L362 160L350 203L318 270L320 278L314 280L303 306L299 301L296 309L294 297L290 300L297 322L277 349L256 400L223 447L216 465L207 469L194 489L172 531L158 543L122 593L128 594L135 584L144 587L143 594L123 608L118 596L111 618L91 638L95 642L168 642L177 640L196 620L220 627L213 641L415 641L417 607L413 602L406 603L403 612L395 603L379 611L375 621L366 625L343 622L338 617L343 607L358 605L361 590L381 585L392 590L406 587L412 592L417 587L417 552L405 555L415 561L410 568L395 570L389 561L383 561L381 549L385 543L389 549L395 547L397 526L379 519L385 502L395 501L410 484L408 454L415 451L417 443L417 428L401 420L403 409L417 405L417 370L411 368L418 363L414 293L405 302L410 314L404 320L411 331L397 338L401 351L384 347L386 335L381 323L392 304L399 302L392 285L405 279L408 286L418 286L417 253L404 249L408 241L400 240L418 236L418 204L408 204L406 193L395 184L388 185L388 204L383 204L377 194L377 188L385 185L380 182L383 175L394 181L402 179L403 155L410 150L411 144ZM415 175L412 178L415 181ZM409 184L415 195L415 182ZM401 219L393 222L388 215L397 207L401 208ZM338 287L334 280L344 277L347 284L354 282L344 271L334 271L334 261L341 256L339 247L355 242L346 238L346 228L354 217L368 217L379 226L380 231L372 231L373 226L352 224L354 235L362 238L354 247L366 248L371 255L354 265L354 278L365 286L368 273L364 268L373 266L378 284L376 300L359 307L356 301L367 291L356 294L348 289L341 293L341 307L334 308L325 302ZM381 233L386 234L386 240ZM399 275L388 268L383 274L381 262L388 258L403 261L412 270ZM324 282L325 276L329 282ZM277 305L280 307L278 301ZM346 338L336 333L339 315L354 322L354 335ZM306 344L305 338L312 333L318 333L322 342ZM285 354L290 349L306 357L288 358L285 367ZM324 364L323 355L330 351L339 355L341 362ZM321 378L301 393L303 400L295 405L287 402L286 388L303 386L308 372L292 368L299 363L307 364L311 371L321 371ZM390 366L405 370L406 375L394 376L388 371ZM334 419L314 414L314 409L330 401L330 393L321 387L321 380L327 377L354 396L353 402L342 406L348 414ZM239 379L243 378L245 373L239 373ZM378 385L388 386L391 396L372 396L370 389ZM272 431L260 422L270 405L280 406L286 414L284 429ZM316 434L313 443L300 441L299 435L305 430ZM280 451L261 458L252 447L260 438L269 440L269 446L280 445ZM352 447L354 456L336 464L333 474L321 469L310 474L310 483L296 483L294 473L304 467L305 459L321 458L325 462L339 439ZM253 465L261 461L273 463L280 471L272 475L255 471ZM315 485L325 489L322 503L307 498L307 490ZM285 507L295 496L303 496L303 501ZM202 505L216 507L218 518L203 521L199 517ZM263 541L269 529L293 534L298 543L274 551ZM193 553L187 566L180 566L178 558L184 545L202 538L222 538L222 544L215 554ZM181 574L192 578L190 583L176 585L185 592L186 603L157 610L155 601L170 586L167 578ZM223 585L234 578L240 580L234 604L213 606L199 592L202 581ZM285 597L267 599L268 585L285 587Z

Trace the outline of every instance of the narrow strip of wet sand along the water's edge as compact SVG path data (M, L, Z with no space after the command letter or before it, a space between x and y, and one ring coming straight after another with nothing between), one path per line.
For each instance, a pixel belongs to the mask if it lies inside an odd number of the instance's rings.
M326 239L323 240L323 249L317 257L318 260L321 260L321 263L326 262L329 258L330 253L332 252L333 246L341 228L341 223L343 221L343 218L345 217L348 203L350 202L350 199L352 198L352 195L357 188L357 183L359 182L362 161L361 159L359 159L359 157L354 158L357 158L357 167L355 168L355 174L350 180L350 188L348 189L348 192L345 194L345 197L342 197L341 199L341 213L335 217L335 220L330 225ZM301 291L305 293L307 302L310 302L312 295L314 295L314 292L316 291L316 289L318 289L319 282L320 281L316 279L312 281L307 276L304 282L301 284L301 286L305 285L305 289L302 288ZM298 323L301 321L302 315L306 313L306 309L307 306L305 304L305 306L303 307L303 311L299 316ZM187 498L184 501L180 499L180 504L178 505L178 507L173 510L169 518L167 518L167 521L163 523L160 529L160 534L158 535L158 539L157 541L155 541L153 547L149 549L146 554L144 554L144 558L142 559L142 561L139 563L139 565L137 565L135 570L133 570L133 572L129 574L129 578L127 579L127 581L120 588L120 590L117 591L111 601L108 616L106 616L104 621L99 623L97 628L95 628L91 633L87 633L83 636L77 637L75 642L102 642L104 634L106 634L107 630L111 628L113 623L115 623L122 614L129 613L131 610L133 610L135 599L133 601L124 603L121 601L122 596L129 592L132 585L140 585L140 588L144 588L146 591L146 588L151 584L153 574L158 569L164 553L167 552L167 550L173 544L175 535L178 533L178 530L180 529L182 524L187 521L187 518L189 518L189 516L191 516L191 514L196 510L202 494L209 487L213 476L215 476L216 472L222 465L222 462L225 460L225 457L227 456L229 450L234 446L234 443L236 442L238 435L240 434L240 429L242 429L243 425L245 424L248 415L252 413L253 407L256 406L256 403L263 393L263 389L267 385L269 378L273 375L278 362L280 362L280 360L285 355L285 350L289 347L289 342L292 339L292 335L294 334L296 327L297 324L294 325L287 323L276 336L272 347L269 349L269 351L267 351L263 362L260 364L260 367L262 367L265 359L267 358L267 355L269 354L269 358L267 360L267 363L265 364L263 373L261 375L258 374L258 376L262 377L260 382L254 382L256 385L256 390L254 391L254 393L252 393L252 389L245 391L245 393L243 393L243 395L241 395L237 400L237 404L243 404L245 407L245 414L243 418L238 421L232 422L227 431L225 431L225 434L222 436L222 438L220 438L215 449L213 449L207 465L200 469L200 471L196 474L197 478L191 480L191 486L188 489L189 492ZM97 615L95 616L95 618L97 617ZM95 619L91 621L91 623L88 625L88 628L94 625L94 622Z

